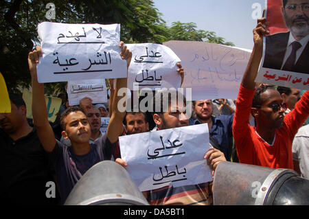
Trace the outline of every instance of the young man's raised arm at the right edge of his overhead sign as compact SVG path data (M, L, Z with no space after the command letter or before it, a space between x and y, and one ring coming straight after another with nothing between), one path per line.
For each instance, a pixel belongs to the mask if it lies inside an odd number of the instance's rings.
M120 42L119 47L122 48L122 51L120 51L120 56L122 57L122 59L126 60L127 72L128 72L128 67L130 65L130 61L132 58L132 52L126 47L126 45L124 45L124 42ZM124 119L126 111L120 112L117 107L119 100L121 100L124 96L119 96L117 95L117 93L120 89L126 87L127 87L127 78L116 79L116 88L113 95L112 108L110 109L110 111L112 111L112 114L106 131L106 135L109 141L111 141L111 143L115 143L118 140L119 135L122 135L122 132L124 131L122 121Z

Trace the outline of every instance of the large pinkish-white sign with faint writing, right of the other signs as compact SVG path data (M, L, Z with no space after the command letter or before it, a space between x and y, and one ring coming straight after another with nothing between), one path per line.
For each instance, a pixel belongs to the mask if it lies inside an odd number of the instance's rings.
M216 43L168 41L185 70L183 88L192 100L236 99L251 52Z

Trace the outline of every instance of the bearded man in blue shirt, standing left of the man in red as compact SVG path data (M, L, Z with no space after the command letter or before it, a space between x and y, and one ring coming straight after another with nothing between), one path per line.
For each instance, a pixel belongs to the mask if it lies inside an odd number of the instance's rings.
M209 141L211 146L225 154L225 159L231 161L233 148L233 115L212 116L213 103L211 100L196 100L193 102L196 119L190 118L189 124L208 124Z

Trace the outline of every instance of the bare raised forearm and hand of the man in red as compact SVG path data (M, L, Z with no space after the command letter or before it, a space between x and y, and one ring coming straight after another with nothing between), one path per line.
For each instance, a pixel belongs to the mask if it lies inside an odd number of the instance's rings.
M255 78L258 75L260 60L263 54L263 36L269 34L265 27L266 19L258 19L258 25L253 30L253 50L247 65L244 76L242 77L242 87L255 89Z

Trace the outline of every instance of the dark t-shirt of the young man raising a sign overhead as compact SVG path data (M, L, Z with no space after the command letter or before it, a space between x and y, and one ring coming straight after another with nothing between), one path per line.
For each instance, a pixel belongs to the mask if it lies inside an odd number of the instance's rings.
M90 151L84 155L74 154L71 146L65 146L56 140L56 146L49 154L54 161L60 188L61 203L65 203L71 189L80 177L95 163L110 160L115 150L116 143L111 143L107 135L100 137L95 143L90 144Z

